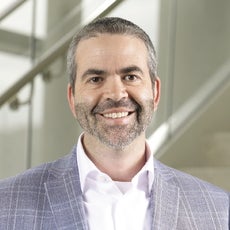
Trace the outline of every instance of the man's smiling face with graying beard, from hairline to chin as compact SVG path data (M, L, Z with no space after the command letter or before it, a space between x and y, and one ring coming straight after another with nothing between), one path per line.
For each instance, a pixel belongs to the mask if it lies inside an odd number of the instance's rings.
M121 149L143 134L159 98L144 43L128 35L102 34L79 43L76 63L75 95L69 97L85 135Z

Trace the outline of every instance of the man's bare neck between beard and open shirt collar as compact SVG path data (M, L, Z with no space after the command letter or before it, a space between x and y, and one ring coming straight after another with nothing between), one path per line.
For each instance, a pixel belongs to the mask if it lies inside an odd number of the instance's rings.
M84 134L83 146L97 168L115 181L131 181L146 162L144 133L119 150L102 144L89 134Z

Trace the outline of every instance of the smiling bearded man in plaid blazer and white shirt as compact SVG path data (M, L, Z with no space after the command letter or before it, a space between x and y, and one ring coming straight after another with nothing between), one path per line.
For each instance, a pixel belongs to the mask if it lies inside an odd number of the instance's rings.
M227 230L229 194L153 158L145 130L160 80L148 35L120 18L84 27L68 53L72 153L0 183L0 230Z

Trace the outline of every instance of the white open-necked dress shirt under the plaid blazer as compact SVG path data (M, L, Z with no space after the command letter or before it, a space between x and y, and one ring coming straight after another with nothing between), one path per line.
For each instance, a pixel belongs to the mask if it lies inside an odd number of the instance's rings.
M77 145L77 162L90 230L149 230L152 220L149 196L154 167L148 144L148 160L144 167L131 182L119 182L101 172L87 157L81 137Z

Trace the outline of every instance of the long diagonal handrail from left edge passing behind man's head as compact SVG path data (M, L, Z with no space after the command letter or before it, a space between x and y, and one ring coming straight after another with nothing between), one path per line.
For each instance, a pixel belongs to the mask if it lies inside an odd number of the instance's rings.
M3 95L0 95L0 108L1 106L14 97L27 83L31 82L39 73L42 72L47 66L49 66L55 59L65 53L69 43L76 33L83 25L90 21L106 16L111 12L118 4L124 0L107 0L100 7L86 18L80 25L76 26L73 30L67 33L62 39L60 39L54 46L52 46L40 59L33 65L33 67L25 73L11 88L6 90Z

